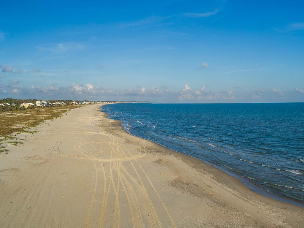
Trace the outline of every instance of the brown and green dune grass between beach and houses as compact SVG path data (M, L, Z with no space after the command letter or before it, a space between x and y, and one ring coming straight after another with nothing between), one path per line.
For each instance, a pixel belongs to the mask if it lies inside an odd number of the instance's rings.
M13 133L34 133L35 131L29 131L27 129L45 120L60 118L65 112L80 106L81 105L65 105L0 112L0 137L2 137L3 140L5 138L11 139L12 136L9 135Z

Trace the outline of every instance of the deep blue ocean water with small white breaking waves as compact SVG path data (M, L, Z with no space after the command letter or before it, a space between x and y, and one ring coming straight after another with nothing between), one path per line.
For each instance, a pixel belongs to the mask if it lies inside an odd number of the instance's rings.
M304 204L304 103L102 106L125 129Z

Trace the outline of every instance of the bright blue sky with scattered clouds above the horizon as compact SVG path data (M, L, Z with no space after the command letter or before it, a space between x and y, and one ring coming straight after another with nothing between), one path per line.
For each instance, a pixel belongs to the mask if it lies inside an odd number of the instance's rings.
M304 102L303 1L2 1L0 98Z

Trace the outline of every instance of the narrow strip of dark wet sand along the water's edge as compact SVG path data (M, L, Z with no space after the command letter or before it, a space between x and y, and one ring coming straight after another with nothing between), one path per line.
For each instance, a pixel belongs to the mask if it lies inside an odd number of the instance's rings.
M110 115L102 110L102 106L104 106L104 105L112 105L112 104L103 104L103 105L100 106L100 112L103 112L103 113L107 116L106 118L109 118ZM109 118L109 119L111 119L111 118ZM132 132L127 131L127 130L125 129L125 127L123 126L123 121L116 120L116 119L112 119L112 120L118 121L118 123L123 127L122 129L123 129L126 133L128 133L128 134L130 134L130 135L132 135L132 136L141 138L141 139L143 139L143 140L149 140L149 141L151 141L151 142L153 142L153 143L156 143L157 145L159 145L159 146L161 146L161 147L164 147L164 148L166 148L166 149L168 149L168 150L171 150L171 151L173 151L173 152L175 152L175 153L184 154L184 153L182 153L182 152L179 152L179 151L173 150L173 149L171 149L171 148L169 148L169 147L166 147L166 146L162 145L161 143L158 143L158 142L155 142L155 141L153 141L153 140L150 140L150 139L147 139L147 138L144 138L144 137L135 135L135 134L133 134ZM236 178L237 180L241 181L246 187L250 188L251 191L256 192L257 194L264 195L264 196L266 196L266 197L268 197L268 198L271 198L271 199L274 199L274 200L278 200L278 201L280 201L280 202L285 202L285 203L289 203L289 204L292 204L292 205L295 205L295 206L304 207L304 204L301 203L301 202L297 202L297 201L295 201L295 200L287 199L287 198L284 198L283 196L276 195L276 194L274 194L274 193L268 192L266 189L264 189L264 188L262 188L261 186L259 186L259 185L255 184L255 183L251 182L250 180L248 180L248 178L245 177L245 176L242 176L242 175L240 175L240 174L237 174L237 173L235 173L235 172L233 172L233 171L226 170L225 168L222 168L222 167L220 167L219 165L216 165L216 164L214 164L214 163L212 163L212 162L209 162L209 161L204 161L204 160L202 160L202 159L199 159L198 157L194 157L194 156L191 156L191 155L189 155L189 154L184 154L184 155L189 156L189 157L192 157L192 158L194 158L194 159L197 159L197 160L199 160L199 161L201 161L201 162L203 162L203 163L205 163L205 164L207 164L207 165L211 165L211 166L213 166L214 168L217 168L217 169L219 169L220 171L225 172L226 174L228 174L228 175L230 175L230 176Z

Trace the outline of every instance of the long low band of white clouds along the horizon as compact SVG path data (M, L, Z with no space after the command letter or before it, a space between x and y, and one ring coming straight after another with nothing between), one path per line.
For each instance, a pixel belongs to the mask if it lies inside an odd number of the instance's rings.
M2 80L3 81L3 80ZM94 97L94 100L151 100L168 102L174 100L180 100L182 102L232 102L236 99L237 102L245 101L246 95L242 97L236 96L232 90L212 91L207 90L206 86L202 86L200 89L191 88L186 84L179 91L164 92L159 87L152 87L146 89L144 87L135 87L130 89L115 89L115 88L102 88L92 84L76 84L73 83L69 86L55 87L54 85L42 86L22 86L23 83L17 83L18 81L8 80L1 84L0 81L0 94L2 97L14 97L16 94L22 95L22 97L33 98L48 98L48 99L89 99ZM40 81L36 82L39 85ZM166 87L165 87L166 88ZM294 93L282 92L278 89L260 89L254 92L254 94L246 100L261 101L261 102L273 102L282 101L288 98L298 99L296 92L304 94L304 89L296 88ZM247 94L248 95L248 94ZM292 97L294 95L295 98ZM287 97L287 98L286 98Z

